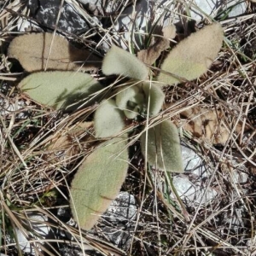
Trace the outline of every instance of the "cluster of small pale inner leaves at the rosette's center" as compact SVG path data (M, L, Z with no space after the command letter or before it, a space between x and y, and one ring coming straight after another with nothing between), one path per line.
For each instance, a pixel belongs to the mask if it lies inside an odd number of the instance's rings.
M148 67L142 61L114 45L108 50L103 60L102 72L107 75L124 75L137 80L144 80L148 77ZM94 118L96 137L110 137L117 134L124 127L120 111L127 119L135 119L148 107L149 98L149 114L155 115L160 112L165 98L164 93L155 84L148 85L146 82L141 82L119 89L115 103L111 100L112 107L107 105L108 108L112 108L112 111L109 110L108 114L104 113L101 105L96 110Z

